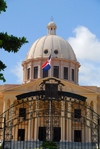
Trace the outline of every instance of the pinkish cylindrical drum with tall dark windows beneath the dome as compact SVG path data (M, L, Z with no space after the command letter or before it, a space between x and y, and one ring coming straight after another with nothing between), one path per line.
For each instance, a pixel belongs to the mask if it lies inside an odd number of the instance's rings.
M65 59L52 58L51 70L48 70L47 74L44 74L41 66L46 60L46 58L38 58L23 62L23 83L28 83L39 78L50 77L51 71L51 76L53 77L78 84L78 69L80 67L78 62L75 63L74 61Z

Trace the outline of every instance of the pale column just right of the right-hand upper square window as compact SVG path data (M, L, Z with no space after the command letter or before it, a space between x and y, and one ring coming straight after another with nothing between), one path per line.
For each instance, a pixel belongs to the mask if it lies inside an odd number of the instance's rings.
M89 126L89 127L86 127L86 136L87 136L87 138L86 138L86 141L87 142L91 142L91 128L90 128L90 114L91 114L91 111L90 111L90 103L91 103L91 101L87 101L87 126Z

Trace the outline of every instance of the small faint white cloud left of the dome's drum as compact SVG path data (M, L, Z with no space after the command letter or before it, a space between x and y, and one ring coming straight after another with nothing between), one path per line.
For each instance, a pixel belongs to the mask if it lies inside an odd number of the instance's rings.
M17 65L14 66L13 69L11 69L11 72L17 76L17 82L22 83L23 82L23 67L21 66L21 61L17 62Z

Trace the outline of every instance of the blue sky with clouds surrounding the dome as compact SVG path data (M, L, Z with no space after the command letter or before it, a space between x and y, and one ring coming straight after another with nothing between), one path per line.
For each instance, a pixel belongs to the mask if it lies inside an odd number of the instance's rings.
M6 82L21 84L21 62L35 40L47 35L53 16L57 35L66 39L81 64L80 85L100 86L100 0L6 0L7 10L0 14L0 31L29 41L18 53L0 49L0 59L7 65Z

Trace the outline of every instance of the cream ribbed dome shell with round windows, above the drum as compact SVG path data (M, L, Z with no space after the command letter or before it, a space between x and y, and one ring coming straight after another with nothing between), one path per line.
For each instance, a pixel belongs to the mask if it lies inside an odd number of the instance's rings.
M52 57L77 61L70 44L56 35L47 35L36 40L27 53L25 60L39 57L48 58L50 53L52 53Z

